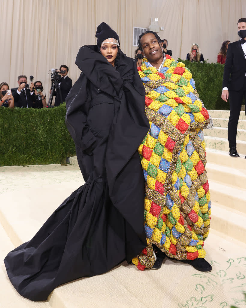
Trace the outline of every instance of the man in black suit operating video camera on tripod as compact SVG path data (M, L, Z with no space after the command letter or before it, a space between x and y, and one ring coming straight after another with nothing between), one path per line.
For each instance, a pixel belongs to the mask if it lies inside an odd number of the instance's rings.
M59 80L59 88L56 88L55 91L53 92L53 95L56 97L55 98L55 106L59 106L61 103L65 102L65 98L68 95L71 87L72 87L72 79L68 77L68 67L63 64L60 66L59 71L56 70L56 73L58 73L61 78ZM51 89L53 87L53 84L51 86ZM50 90L51 94L51 90ZM62 101L61 101L62 100Z

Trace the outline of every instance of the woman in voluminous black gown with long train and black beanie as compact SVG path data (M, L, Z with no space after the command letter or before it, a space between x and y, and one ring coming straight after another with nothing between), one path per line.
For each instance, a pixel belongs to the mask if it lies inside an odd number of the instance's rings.
M78 52L82 73L66 98L66 125L85 184L4 260L15 289L33 301L46 300L65 282L130 262L147 245L137 153L149 130L145 91L136 64L118 48L118 35L101 23L96 37L97 45Z

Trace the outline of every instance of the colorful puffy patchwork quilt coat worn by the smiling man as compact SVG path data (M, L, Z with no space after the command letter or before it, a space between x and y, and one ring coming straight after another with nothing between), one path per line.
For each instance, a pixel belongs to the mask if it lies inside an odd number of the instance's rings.
M138 71L150 124L138 149L146 181L148 246L133 263L144 270L156 260L152 244L177 260L206 255L211 201L203 128L211 119L184 63L166 55L159 72L144 58Z

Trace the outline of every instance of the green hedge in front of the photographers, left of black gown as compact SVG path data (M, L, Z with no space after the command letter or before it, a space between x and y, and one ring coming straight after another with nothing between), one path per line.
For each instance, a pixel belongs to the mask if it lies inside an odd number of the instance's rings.
M0 166L58 164L75 155L65 103L54 108L0 107Z

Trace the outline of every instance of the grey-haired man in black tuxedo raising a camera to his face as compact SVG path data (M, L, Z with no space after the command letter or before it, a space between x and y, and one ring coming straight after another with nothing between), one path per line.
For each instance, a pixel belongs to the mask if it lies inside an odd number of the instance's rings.
M14 97L14 107L34 108L35 95L34 84L30 83L30 88L26 88L26 75L18 76L18 88L11 89Z

